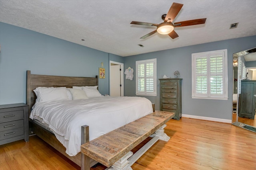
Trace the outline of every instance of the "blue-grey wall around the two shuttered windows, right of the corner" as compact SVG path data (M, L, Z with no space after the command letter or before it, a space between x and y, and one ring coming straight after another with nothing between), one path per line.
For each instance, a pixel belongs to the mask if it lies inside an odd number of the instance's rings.
M182 80L182 114L214 117L220 119L232 119L232 88L233 88L233 53L256 47L256 36L216 41L200 45L180 47L164 51L157 51L124 58L124 67L136 68L137 60L157 59L157 79L166 76L174 77L175 70L180 71ZM201 100L191 98L192 84L192 53L228 49L228 100ZM134 76L136 73L134 73ZM136 78L125 80L124 95L136 96ZM160 86L157 82L157 96L148 97L160 109Z

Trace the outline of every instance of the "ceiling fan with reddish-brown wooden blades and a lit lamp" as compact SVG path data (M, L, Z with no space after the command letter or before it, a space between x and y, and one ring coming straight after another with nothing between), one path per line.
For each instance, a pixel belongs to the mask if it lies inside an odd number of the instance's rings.
M162 15L162 20L164 20L164 22L162 22L160 24L139 22L139 21L132 21L131 24L156 27L156 30L144 35L143 37L141 37L141 39L149 37L150 35L153 35L156 32L158 32L160 34L168 34L172 39L174 39L179 36L174 31L174 27L184 27L184 26L189 26L189 25L198 25L198 24L205 23L206 18L172 23L172 21L175 19L175 17L180 12L182 6L183 6L183 4L174 2L172 4L170 10L168 11L168 13Z

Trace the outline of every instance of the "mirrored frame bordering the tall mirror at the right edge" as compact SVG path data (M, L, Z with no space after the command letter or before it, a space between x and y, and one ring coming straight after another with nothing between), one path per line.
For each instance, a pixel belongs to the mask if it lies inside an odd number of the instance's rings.
M248 49L248 50L241 51L241 52L238 52L238 53L234 53L233 54L233 63L234 63L234 61L236 61L236 62L238 62L238 66L239 66L239 64L241 63L241 59L240 58L242 56L245 56L245 55L249 54L247 52L249 50L254 50L255 51L256 48L252 48L252 49ZM253 52L253 53L256 53L256 52ZM233 71L234 71L234 66L233 66ZM241 71L241 70L238 70L238 73L239 73L239 71ZM234 73L233 73L233 78L234 78ZM240 84L239 82L241 82L241 77L239 76L239 74L237 75L237 82L238 82L238 86L239 86L239 84ZM249 130L249 131L252 131L252 132L256 133L256 127L251 126L251 125L247 125L245 123L242 123L242 122L238 121L239 87L238 87L237 90L238 90L238 93L237 93L237 102L236 102L236 121L233 122L233 115L232 115L232 125L235 125L237 127L241 127L243 129L246 129L246 130ZM234 94L234 80L233 80L233 92L232 93ZM232 114L233 114L233 112L232 112Z

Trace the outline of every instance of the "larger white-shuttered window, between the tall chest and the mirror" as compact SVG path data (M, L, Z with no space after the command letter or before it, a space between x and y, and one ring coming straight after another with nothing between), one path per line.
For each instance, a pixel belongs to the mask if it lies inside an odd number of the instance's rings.
M192 98L228 100L227 49L192 54Z

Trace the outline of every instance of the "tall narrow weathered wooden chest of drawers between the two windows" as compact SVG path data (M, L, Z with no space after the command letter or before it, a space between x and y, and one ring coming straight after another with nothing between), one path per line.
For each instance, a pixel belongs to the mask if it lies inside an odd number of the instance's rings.
M160 78L160 107L162 111L174 112L174 119L182 117L182 78Z

